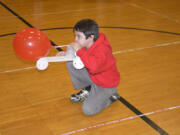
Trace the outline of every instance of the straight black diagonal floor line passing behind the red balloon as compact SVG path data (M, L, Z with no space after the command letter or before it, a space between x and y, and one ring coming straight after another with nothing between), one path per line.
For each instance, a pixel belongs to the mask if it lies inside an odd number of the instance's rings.
M23 23L25 23L28 27L30 28L34 28L33 25L31 25L28 21L26 21L23 17L21 17L20 15L18 15L16 12L14 12L12 9L10 9L7 5L5 5L3 2L0 1L0 5L2 5L5 9L7 9L9 12L11 12L14 16L16 16L19 20L21 20ZM51 44L53 46L56 46L56 44L52 41ZM62 51L61 48L56 48L58 51Z

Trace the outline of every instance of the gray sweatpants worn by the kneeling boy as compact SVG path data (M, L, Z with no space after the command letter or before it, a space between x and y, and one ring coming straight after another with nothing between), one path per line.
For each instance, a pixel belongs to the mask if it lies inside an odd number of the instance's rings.
M94 115L111 104L110 97L116 93L115 88L102 88L96 85L89 77L86 68L75 69L72 62L67 62L67 68L75 89L91 86L88 98L83 102L82 111L86 115Z

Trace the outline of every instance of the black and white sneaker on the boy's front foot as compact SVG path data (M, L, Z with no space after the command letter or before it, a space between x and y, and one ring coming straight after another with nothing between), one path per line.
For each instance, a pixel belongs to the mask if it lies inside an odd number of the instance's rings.
M83 102L88 96L89 96L89 91L82 89L80 92L76 94L72 94L70 96L70 100L75 103Z

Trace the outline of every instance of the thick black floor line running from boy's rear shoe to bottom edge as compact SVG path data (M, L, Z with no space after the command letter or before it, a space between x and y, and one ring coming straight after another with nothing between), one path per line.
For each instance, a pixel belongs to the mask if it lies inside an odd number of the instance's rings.
M135 108L133 105L131 105L127 100L125 100L123 97L119 98L119 101L122 102L126 107L128 107L131 111L133 111L136 115L142 115L143 113L140 112L137 108ZM154 130L159 132L160 135L168 135L168 133L163 130L161 127L159 127L155 122L150 120L147 116L140 117L142 120L144 120L149 126L151 126Z

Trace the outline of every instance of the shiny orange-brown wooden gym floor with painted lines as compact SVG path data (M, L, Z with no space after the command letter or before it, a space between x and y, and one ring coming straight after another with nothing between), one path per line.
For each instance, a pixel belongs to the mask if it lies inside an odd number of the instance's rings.
M179 6L179 0L1 0L0 135L179 135ZM84 18L99 23L121 73L122 98L95 116L69 101L75 91L65 63L38 71L12 48L15 33L27 27L56 45L70 43L71 27Z

